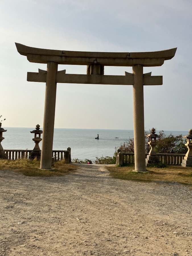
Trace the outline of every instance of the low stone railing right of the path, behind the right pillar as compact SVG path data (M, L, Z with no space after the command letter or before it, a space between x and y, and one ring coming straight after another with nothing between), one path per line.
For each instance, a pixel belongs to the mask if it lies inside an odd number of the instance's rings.
M147 157L147 153L145 154L145 158ZM181 165L183 157L185 154L157 154L159 156L159 160L163 164L167 165ZM117 160L116 164L134 164L134 153L123 153L117 150Z

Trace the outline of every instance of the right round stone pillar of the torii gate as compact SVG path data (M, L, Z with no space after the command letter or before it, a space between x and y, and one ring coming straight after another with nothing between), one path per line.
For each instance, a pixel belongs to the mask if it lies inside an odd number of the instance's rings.
M145 172L143 65L133 65L133 120L135 171Z

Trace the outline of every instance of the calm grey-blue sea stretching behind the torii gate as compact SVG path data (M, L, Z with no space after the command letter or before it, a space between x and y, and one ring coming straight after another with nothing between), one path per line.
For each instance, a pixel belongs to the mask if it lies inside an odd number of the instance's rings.
M32 141L34 134L30 133L34 128L3 127L7 129L3 133L5 139L2 141L4 149L33 149ZM97 133L99 140L96 140ZM158 133L158 131L157 131ZM188 131L165 131L166 135L185 136ZM115 138L117 137L117 138ZM115 147L129 138L133 138L133 130L107 130L107 129L54 129L53 150L67 150L71 147L71 158L85 158L92 161L95 157L113 156ZM40 142L40 148L42 142Z

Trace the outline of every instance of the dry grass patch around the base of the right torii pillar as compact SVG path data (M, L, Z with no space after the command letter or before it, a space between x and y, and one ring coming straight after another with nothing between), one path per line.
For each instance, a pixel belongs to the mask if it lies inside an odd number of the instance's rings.
M127 179L141 182L178 182L192 185L192 167L167 166L166 168L148 167L148 172L132 172L134 166L107 166L110 176L117 179Z

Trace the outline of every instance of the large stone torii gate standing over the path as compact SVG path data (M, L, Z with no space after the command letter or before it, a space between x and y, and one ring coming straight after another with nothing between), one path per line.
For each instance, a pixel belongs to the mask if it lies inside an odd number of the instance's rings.
M151 72L143 74L143 67L163 65L165 60L174 57L177 48L119 53L59 51L15 44L17 51L25 55L28 61L47 64L47 71L39 69L38 73L27 72L27 81L46 82L41 169L51 168L57 83L74 83L133 85L135 171L146 171L143 85L162 85L163 77L151 76ZM58 64L86 65L87 75L57 71ZM104 75L104 66L132 67L133 73L125 72L124 76Z

